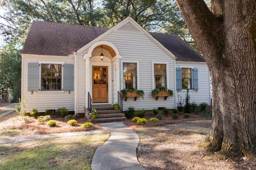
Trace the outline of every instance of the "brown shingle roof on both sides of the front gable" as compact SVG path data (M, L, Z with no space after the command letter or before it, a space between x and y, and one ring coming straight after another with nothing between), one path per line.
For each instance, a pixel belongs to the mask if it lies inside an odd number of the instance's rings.
M108 31L108 28L33 21L22 54L67 56ZM150 33L177 61L204 62L202 55L175 34Z

